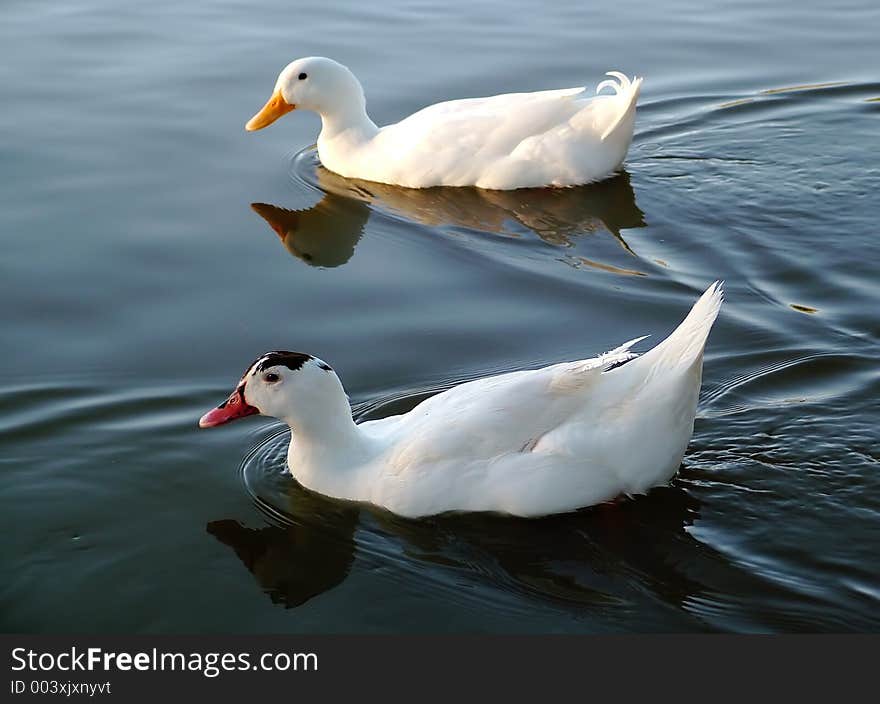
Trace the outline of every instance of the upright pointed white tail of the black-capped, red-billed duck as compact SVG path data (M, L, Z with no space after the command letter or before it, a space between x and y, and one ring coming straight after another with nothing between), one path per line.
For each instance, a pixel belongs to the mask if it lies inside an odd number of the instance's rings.
M691 308L691 312L672 334L652 350L645 352L634 364L650 368L651 374L672 369L689 369L702 363L703 348L712 324L724 301L722 282L716 281Z

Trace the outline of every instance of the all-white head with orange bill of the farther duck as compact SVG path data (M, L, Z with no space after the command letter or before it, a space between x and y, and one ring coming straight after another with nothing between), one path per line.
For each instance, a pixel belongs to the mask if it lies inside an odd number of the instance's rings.
M268 127L291 110L314 110L323 117L365 114L364 90L345 66L309 56L284 67L272 97L245 125L249 132Z

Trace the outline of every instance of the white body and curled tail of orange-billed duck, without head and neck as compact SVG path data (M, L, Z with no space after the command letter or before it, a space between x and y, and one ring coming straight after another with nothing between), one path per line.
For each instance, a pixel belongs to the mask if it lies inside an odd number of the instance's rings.
M623 161L641 79L614 74L583 87L507 93L431 105L383 127L369 158L399 185L483 188L573 185L604 178Z

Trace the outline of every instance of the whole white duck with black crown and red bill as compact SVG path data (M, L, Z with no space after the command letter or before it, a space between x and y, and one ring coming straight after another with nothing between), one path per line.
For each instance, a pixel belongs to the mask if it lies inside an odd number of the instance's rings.
M199 426L280 418L291 429L288 468L301 484L407 517L563 513L644 493L675 474L721 300L716 282L642 356L630 351L640 337L593 359L461 384L409 413L360 424L328 364L269 352Z

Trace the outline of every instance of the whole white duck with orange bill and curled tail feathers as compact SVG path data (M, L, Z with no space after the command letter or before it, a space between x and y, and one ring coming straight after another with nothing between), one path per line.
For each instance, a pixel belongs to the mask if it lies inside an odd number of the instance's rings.
M321 162L348 178L411 188L575 186L611 176L632 141L642 79L607 75L616 81L602 81L596 92L610 87L614 95L585 97L581 87L453 100L380 128L354 74L312 56L284 68L245 129L314 110Z

